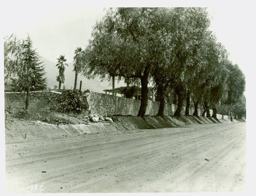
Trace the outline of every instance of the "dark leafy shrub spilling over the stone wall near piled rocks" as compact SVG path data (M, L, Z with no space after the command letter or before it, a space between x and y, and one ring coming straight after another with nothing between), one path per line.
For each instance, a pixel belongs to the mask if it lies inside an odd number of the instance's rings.
M67 90L66 100L56 106L59 112L81 113L89 109L86 93L88 91L79 91L78 89Z

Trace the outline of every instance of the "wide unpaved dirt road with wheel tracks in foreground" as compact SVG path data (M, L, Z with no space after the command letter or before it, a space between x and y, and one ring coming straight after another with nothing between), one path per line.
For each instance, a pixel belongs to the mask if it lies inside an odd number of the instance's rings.
M8 192L245 191L246 124L6 142ZM44 172L43 172L44 171Z

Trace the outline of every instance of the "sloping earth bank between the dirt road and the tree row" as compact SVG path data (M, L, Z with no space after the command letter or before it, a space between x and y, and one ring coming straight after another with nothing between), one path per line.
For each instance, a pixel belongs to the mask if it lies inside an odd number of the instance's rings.
M86 122L74 124L47 124L41 121L28 121L10 118L5 120L6 140L70 137L84 134L129 132L131 130L181 127L195 124L230 122L217 118L196 116L112 116L113 121ZM234 120L233 122L236 122Z

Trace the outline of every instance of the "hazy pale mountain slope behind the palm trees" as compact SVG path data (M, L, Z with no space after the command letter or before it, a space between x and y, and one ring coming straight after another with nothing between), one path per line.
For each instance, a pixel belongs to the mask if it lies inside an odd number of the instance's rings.
M43 65L45 65L45 77L47 78L48 87L51 89L54 88L55 85L58 86L58 82L56 81L56 77L58 76L58 68L56 67L56 62L51 62L44 57L40 57L40 61ZM61 88L63 85L65 85L66 89L73 89L74 88L74 82L75 82L75 72L73 71L74 66L73 63L68 63L69 66L66 66L64 75L65 75L65 82L64 84L61 84ZM82 76L81 74L78 74L77 77L77 88L79 89L80 81L82 81L82 90L91 90L94 92L101 92L104 93L103 90L105 89L112 89L112 82L110 81L102 81L100 82L100 79L97 77L95 79L89 80L86 79L86 77ZM120 86L126 86L122 81L115 84L115 87Z

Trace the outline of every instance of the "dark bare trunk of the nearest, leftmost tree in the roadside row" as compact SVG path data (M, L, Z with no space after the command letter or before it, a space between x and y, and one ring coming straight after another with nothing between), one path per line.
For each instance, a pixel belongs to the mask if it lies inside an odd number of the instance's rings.
M144 117L144 115L146 113L146 107L147 107L147 93L148 93L147 77L148 77L148 75L142 76L140 78L140 82L141 82L141 101L140 101L139 113L138 113L137 116L141 116L141 117Z

